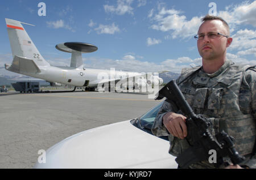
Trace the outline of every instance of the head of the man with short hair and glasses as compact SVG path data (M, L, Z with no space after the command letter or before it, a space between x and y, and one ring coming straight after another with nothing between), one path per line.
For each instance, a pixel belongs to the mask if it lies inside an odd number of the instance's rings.
M232 42L228 23L218 16L211 15L205 16L202 21L195 36L199 54L207 60L225 58L226 48Z

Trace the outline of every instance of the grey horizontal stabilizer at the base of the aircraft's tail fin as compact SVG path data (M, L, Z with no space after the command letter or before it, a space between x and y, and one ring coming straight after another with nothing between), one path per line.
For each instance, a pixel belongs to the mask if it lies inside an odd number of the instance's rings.
M25 57L20 57L15 55L13 58L13 63L11 66L5 66L7 70L13 72L31 72L31 73L38 73L41 72L39 67L32 59L28 59Z

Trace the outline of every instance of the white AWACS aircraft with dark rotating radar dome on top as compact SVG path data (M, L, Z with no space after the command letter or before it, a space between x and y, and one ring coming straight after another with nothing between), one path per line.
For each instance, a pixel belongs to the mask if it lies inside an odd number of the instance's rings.
M13 53L13 63L5 65L8 71L44 79L47 82L86 87L88 91L94 91L100 83L102 88L104 85L105 88L110 88L111 85L116 85L118 82L121 87L125 88L142 88L148 85L152 87L152 85L163 84L163 79L155 74L148 75L127 71L114 71L113 74L113 71L110 70L85 68L82 65L82 53L95 52L98 48L82 42L65 42L56 45L56 49L72 53L71 65L70 67L51 66L39 53L23 28L22 24L27 23L13 19L5 20Z

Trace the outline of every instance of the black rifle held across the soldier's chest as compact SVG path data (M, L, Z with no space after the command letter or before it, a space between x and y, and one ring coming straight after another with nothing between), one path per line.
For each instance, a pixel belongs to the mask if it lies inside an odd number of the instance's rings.
M180 168L188 168L195 162L209 160L209 153L212 153L212 150L216 152L216 162L214 162L216 168L224 164L224 157L229 157L234 165L245 160L234 148L232 136L224 131L216 135L210 133L208 119L204 115L193 112L174 80L160 89L155 99L160 100L163 97L166 97L168 102L174 104L187 117L186 139L191 147L175 159Z

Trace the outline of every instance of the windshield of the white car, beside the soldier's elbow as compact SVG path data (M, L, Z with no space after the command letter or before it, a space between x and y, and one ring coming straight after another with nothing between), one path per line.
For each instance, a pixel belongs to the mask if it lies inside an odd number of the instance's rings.
M151 129L151 127L155 121L155 117L158 114L161 106L163 105L163 102L164 101L160 102L154 108L149 110L146 114L142 115L142 117L139 119L142 127Z

